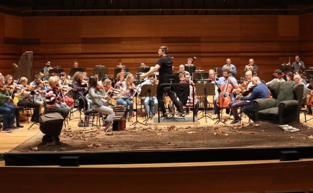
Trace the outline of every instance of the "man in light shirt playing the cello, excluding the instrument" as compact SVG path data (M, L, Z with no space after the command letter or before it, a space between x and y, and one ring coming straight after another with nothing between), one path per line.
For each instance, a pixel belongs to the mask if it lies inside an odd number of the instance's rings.
M226 85L226 83L228 83L228 84ZM230 87L231 91L238 87L237 80L231 76L231 72L227 68L225 70L223 70L223 77L220 77L219 80L216 82L216 84L219 86L219 88L221 88L223 85L225 88ZM223 90L220 91L220 95L221 94L227 94L227 95L232 94L232 93L222 93L222 92L223 92ZM214 105L214 116L213 116L213 118L214 119L219 118L220 107L217 105L217 100L219 100L219 98L216 98L213 101L213 105ZM226 113L229 113L229 109L226 109ZM232 115L230 115L230 116L232 119Z

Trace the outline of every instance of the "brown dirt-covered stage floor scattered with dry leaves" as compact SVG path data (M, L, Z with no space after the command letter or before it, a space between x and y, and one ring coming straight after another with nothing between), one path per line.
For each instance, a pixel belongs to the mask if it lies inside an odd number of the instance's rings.
M63 128L61 143L42 145L39 131L11 152L133 151L229 147L283 147L313 145L313 127L289 124L300 129L285 132L268 122L237 125L134 126L124 131L96 127Z

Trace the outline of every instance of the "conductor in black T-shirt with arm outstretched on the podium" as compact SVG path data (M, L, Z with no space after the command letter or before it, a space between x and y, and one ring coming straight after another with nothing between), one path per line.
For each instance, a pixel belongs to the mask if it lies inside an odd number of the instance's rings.
M168 47L166 46L161 46L158 50L158 54L160 57L158 62L156 62L155 66L147 73L141 74L140 78L143 79L149 74L159 71L159 84L156 88L156 98L158 99L158 103L163 113L163 117L168 118L168 115L166 114L165 104L163 101L163 89L161 85L165 83L165 76L173 73L173 59L168 56ZM181 113L184 113L181 108L178 108L178 110Z

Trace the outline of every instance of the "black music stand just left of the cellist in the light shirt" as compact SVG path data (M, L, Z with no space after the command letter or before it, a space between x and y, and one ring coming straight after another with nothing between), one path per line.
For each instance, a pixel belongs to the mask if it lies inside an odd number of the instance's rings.
M215 85L212 83L196 84L196 91L199 96L204 96L204 116L200 117L198 120L205 117L207 122L207 117L214 120L211 116L207 115L208 111L208 100L207 96L215 96Z

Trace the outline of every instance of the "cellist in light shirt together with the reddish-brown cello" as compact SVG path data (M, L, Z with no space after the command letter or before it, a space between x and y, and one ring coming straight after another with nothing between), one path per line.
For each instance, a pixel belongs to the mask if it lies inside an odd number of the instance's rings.
M226 100L226 98L229 98L230 95L232 94L232 90L238 88L238 83L237 80L231 76L231 72L229 71L228 68L225 68L223 70L223 77L220 77L219 80L216 82L216 84L219 87L219 98L215 99L213 101L214 103L214 119L218 119L219 118L219 111L220 111L220 107L228 107L228 103L230 102L230 100ZM225 100L224 97L225 96ZM224 104L222 106L222 103L225 103L226 101L229 101L227 104ZM228 109L228 110L227 110ZM229 113L229 108L227 108L226 113ZM232 115L231 115L232 117Z

